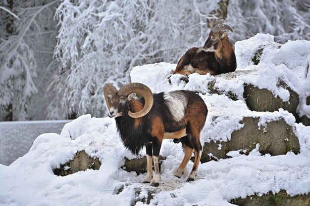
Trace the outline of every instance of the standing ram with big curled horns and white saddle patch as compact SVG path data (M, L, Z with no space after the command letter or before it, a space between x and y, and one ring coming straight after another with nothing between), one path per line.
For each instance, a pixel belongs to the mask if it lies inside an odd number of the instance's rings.
M136 99L131 93L142 95ZM112 84L103 87L109 117L115 118L121 141L133 154L146 147L147 176L144 183L158 186L158 158L163 139L180 138L185 156L174 176L181 177L193 151L195 161L187 181L194 180L202 154L200 132L205 125L207 106L192 91L171 91L153 94L142 83L129 83L117 90ZM152 159L155 175L153 175Z

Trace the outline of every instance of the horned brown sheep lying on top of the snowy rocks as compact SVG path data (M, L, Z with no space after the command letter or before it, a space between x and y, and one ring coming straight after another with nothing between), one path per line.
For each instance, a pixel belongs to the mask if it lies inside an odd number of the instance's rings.
M236 56L227 36L229 31L233 30L226 24L216 25L203 47L193 47L181 57L173 74L218 75L235 71Z

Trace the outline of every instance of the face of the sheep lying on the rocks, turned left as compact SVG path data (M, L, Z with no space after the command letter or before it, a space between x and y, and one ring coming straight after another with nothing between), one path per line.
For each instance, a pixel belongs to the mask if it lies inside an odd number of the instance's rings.
M204 51L218 51L222 48L222 39L227 36L228 31L214 33L210 31L208 39L203 46Z

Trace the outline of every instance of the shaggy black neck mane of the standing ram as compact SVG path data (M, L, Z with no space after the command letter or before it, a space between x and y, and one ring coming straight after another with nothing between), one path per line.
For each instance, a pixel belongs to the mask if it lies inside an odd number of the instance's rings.
M140 101L132 99L129 102L130 110L138 112L142 109L143 105ZM128 115L129 108L126 107L122 112L123 116L115 118L117 130L120 139L124 146L129 149L133 154L138 155L140 150L145 146L145 136L142 135L142 118L134 119Z

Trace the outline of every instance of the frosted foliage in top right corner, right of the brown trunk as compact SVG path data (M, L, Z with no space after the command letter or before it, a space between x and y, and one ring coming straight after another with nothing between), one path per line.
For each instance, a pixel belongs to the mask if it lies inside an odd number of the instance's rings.
M278 42L310 39L308 0L230 0L227 22L236 28L232 36L242 40L269 33Z

